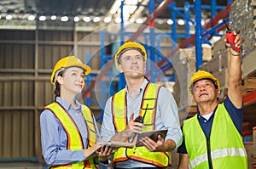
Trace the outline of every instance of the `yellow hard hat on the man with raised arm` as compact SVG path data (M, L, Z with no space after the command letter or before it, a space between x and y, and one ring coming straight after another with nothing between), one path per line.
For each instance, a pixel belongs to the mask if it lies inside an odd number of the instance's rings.
M194 82L197 82L201 79L211 79L214 83L214 86L217 87L218 90L220 90L220 85L218 82L218 79L215 76L212 76L211 73L209 73L208 71L205 70L198 70L197 72L195 72L195 74L191 77L190 82L188 84L188 92L192 95L191 92L191 85Z

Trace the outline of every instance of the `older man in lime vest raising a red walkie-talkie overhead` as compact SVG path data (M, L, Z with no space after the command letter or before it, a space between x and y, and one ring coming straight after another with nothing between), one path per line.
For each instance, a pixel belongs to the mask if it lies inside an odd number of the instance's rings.
M236 48L241 47L235 35ZM177 149L178 169L247 169L247 153L242 143L243 103L240 53L225 41L230 53L228 96L218 104L220 84L211 73L198 70L188 85L197 104L197 114L183 122L183 144ZM228 57L228 56L227 56Z

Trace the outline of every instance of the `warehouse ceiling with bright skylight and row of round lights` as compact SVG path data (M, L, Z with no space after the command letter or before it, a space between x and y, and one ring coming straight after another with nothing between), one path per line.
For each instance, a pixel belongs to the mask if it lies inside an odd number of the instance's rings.
M114 14L113 6L116 2L120 3L121 0L0 0L0 12L1 19L4 20L8 14L13 14L13 19L22 20L28 18L29 14L36 14L37 17L40 15L46 16L46 20L49 20L51 15L68 16L75 17L78 16L79 21L85 20L84 17L90 18L86 22L92 22L94 18L98 17L98 21L95 21L97 25L108 25L109 23L118 23L117 18L120 17L120 9L116 10ZM124 7L125 21L130 23L138 23L137 20L146 20L149 14L148 3L150 0L125 0L125 4L130 4L131 8ZM161 1L155 0L155 6L158 6ZM183 7L185 2L193 4L193 0L183 1L175 0L177 7ZM211 1L201 0L201 4L210 5ZM132 5L133 4L133 5ZM141 4L136 6L134 4ZM217 5L225 6L227 1L218 0ZM191 12L191 17L193 17L193 11ZM159 17L157 18L158 24L166 23L166 20L170 19L171 12L170 9L166 8ZM48 18L47 18L48 17ZM106 21L105 18L108 17L111 21ZM180 16L177 16L180 17ZM202 10L202 18L210 18L209 11ZM106 24L107 23L107 24Z

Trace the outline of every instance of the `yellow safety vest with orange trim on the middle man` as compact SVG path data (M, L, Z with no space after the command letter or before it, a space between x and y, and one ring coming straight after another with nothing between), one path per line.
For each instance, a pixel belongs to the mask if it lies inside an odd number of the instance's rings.
M139 115L143 116L143 132L154 130L154 118L160 85L148 82L143 93ZM115 93L112 98L113 123L115 130L121 132L128 124L125 89ZM128 139L126 140L128 142ZM119 148L113 155L113 165L120 161L141 161L154 166L171 166L171 152L150 152L145 146Z

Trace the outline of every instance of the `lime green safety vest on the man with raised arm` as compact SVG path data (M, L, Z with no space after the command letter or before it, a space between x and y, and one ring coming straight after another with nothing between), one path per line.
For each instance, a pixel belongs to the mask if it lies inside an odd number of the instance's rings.
M183 122L189 167L197 169L247 169L247 153L241 134L224 104L218 104L210 138L201 129L198 115Z

